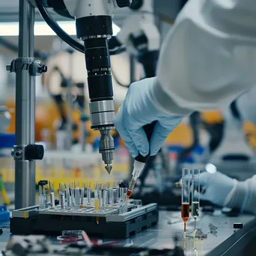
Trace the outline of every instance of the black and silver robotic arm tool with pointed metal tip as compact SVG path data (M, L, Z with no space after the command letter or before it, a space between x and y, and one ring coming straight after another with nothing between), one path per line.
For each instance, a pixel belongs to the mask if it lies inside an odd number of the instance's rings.
M88 72L91 128L100 131L100 148L106 171L110 174L114 153L115 103L113 100L109 39L112 36L112 13L128 7L131 0L48 0L49 7L67 10L76 19L77 37L85 45ZM66 11L66 13L67 13Z

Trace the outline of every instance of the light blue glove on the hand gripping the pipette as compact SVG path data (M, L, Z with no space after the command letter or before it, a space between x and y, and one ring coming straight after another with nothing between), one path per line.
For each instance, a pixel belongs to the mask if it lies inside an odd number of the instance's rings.
M151 156L156 155L169 133L183 118L180 115L163 113L156 108L153 97L153 86L156 85L156 81L156 78L150 78L132 83L115 117L115 127L132 157L138 156L138 152L142 156L147 156L149 150ZM158 122L149 145L142 127L153 121Z

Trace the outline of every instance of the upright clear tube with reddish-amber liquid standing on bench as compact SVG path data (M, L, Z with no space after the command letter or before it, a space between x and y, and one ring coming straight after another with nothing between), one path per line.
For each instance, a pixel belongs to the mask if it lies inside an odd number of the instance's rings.
M184 235L186 235L186 222L189 219L189 193L190 193L190 169L182 169L181 187L181 218L184 222Z

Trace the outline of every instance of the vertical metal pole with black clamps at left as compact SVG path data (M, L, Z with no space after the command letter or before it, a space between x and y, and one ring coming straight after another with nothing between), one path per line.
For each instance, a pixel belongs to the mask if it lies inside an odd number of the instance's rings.
M34 57L34 7L19 0L19 58L16 60L16 145L34 144L35 84L24 63ZM35 204L35 161L15 161L15 208Z

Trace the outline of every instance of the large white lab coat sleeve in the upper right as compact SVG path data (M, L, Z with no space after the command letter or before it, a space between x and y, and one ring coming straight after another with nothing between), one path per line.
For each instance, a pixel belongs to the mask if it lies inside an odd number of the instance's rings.
M256 1L190 0L162 46L156 106L218 109L255 85L255 67Z

